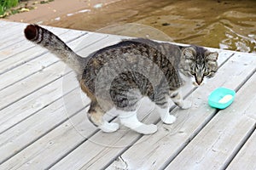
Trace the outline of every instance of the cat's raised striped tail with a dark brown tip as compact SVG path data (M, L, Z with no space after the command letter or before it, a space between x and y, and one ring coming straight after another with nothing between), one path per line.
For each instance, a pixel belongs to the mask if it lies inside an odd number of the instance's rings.
M85 59L75 54L65 42L52 32L38 25L26 26L24 30L26 39L32 41L44 48L47 48L52 54L64 61L80 77L84 71Z

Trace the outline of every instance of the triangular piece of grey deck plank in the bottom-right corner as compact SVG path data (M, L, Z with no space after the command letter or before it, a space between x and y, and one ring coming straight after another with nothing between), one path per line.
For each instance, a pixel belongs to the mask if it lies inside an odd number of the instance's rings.
M253 107L251 107L253 108ZM254 106L255 113L255 106ZM254 114L255 115L255 114ZM256 169L256 133L254 132L252 136L248 139L247 143L241 148L234 160L231 161L227 170L233 169Z

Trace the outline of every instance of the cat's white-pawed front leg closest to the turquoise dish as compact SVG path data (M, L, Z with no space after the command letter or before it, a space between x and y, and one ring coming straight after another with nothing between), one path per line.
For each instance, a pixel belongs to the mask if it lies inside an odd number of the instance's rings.
M183 100L183 95L180 89L170 92L170 97L175 105L181 109L189 109L192 103L189 100Z

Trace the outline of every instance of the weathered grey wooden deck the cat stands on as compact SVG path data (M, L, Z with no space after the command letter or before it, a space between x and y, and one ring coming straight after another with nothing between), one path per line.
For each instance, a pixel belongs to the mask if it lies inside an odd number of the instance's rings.
M256 169L256 54L213 49L218 74L199 88L183 89L193 106L173 107L173 125L160 122L147 105L139 118L157 124L157 133L125 127L102 133L87 119L89 99L73 71L26 41L25 27L0 21L0 169ZM83 56L120 39L47 28ZM218 87L237 93L223 111L207 105Z

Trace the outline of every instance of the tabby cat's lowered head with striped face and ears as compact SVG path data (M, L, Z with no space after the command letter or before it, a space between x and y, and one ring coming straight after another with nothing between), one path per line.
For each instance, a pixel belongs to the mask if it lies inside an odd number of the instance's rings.
M218 70L218 53L206 48L190 46L182 49L179 71L192 77L197 85L207 77L211 78Z

